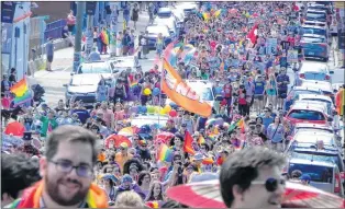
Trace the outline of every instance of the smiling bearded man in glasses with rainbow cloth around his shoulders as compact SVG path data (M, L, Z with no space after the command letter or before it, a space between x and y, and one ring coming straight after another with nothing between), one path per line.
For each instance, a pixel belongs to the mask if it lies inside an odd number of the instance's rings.
M12 208L107 208L104 190L92 184L96 136L78 126L55 129L40 160L43 177L26 188Z

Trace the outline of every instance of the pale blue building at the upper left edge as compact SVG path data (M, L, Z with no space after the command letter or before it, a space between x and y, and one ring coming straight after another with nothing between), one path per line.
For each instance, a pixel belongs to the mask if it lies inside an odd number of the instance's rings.
M1 2L1 73L16 69L16 79L27 71L31 2Z

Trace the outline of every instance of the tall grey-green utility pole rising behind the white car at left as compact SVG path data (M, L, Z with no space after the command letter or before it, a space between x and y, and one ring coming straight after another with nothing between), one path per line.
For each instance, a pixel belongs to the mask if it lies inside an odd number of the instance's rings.
M81 59L81 35L85 12L85 1L77 1L77 22L75 37L74 72L77 72Z

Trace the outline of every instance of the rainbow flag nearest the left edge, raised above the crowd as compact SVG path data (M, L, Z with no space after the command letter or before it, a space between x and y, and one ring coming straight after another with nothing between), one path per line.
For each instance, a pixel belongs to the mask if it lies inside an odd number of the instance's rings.
M27 88L26 79L20 80L10 91L15 95L13 102L14 106L32 100L31 91Z

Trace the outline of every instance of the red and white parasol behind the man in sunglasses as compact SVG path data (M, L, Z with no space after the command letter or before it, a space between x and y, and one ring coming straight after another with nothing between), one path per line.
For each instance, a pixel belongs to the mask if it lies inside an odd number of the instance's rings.
M171 187L167 196L192 208L226 208L219 179ZM345 208L344 199L311 186L287 182L282 207L291 208Z

